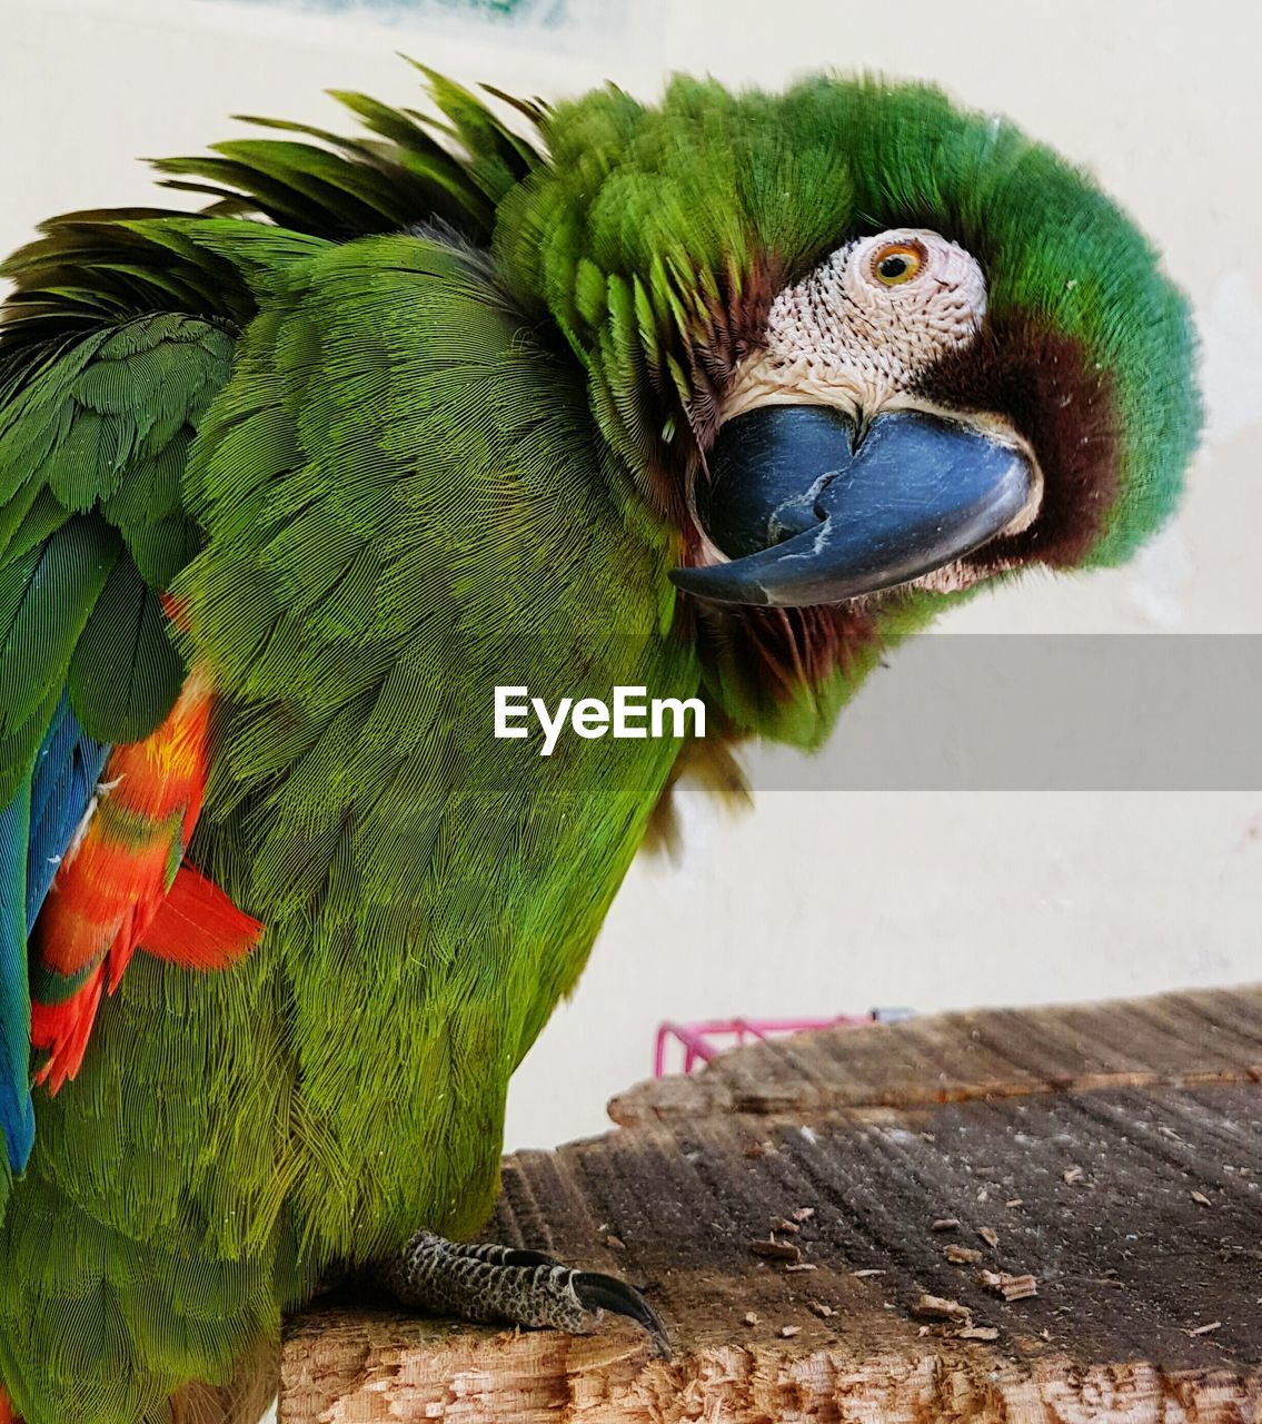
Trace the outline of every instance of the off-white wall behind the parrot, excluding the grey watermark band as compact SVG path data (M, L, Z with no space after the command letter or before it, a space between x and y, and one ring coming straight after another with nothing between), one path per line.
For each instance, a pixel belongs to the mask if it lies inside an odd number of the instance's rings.
M630 30L606 20L546 53L218 0L0 0L0 249L47 214L145 201L134 155L198 151L233 131L229 112L329 121L326 87L405 101L398 48L545 95L605 77L652 95L669 68L929 77L1091 167L1155 236L1197 305L1211 414L1182 513L1135 565L1003 590L952 627L1262 632L1262 7L635 9ZM518 1074L509 1143L599 1131L664 1017L1081 998L1259 971L1262 793L774 793L736 822L690 805L684 863L632 870L575 1000Z

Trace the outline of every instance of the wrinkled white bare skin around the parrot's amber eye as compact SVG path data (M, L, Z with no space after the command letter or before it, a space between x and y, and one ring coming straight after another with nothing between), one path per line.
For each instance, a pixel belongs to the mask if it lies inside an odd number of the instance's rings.
M921 372L969 346L985 315L980 266L940 234L894 228L848 242L771 303L721 419L775 400L889 409Z

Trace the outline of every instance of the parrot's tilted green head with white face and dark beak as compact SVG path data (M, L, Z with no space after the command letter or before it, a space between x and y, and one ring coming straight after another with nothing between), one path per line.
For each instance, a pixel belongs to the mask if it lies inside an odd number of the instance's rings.
M817 745L876 649L1127 558L1199 407L1184 299L1081 171L925 85L555 110L501 262L670 531L736 726Z

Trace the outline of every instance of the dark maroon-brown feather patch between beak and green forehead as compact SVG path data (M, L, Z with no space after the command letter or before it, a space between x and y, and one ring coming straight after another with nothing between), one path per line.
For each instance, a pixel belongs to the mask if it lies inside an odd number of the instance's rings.
M1081 343L1027 319L993 319L972 347L926 372L918 390L950 410L1006 417L1043 470L1043 504L1033 524L989 544L970 562L982 570L1013 560L1053 568L1080 564L1118 490L1111 382L1107 372L1090 369Z

